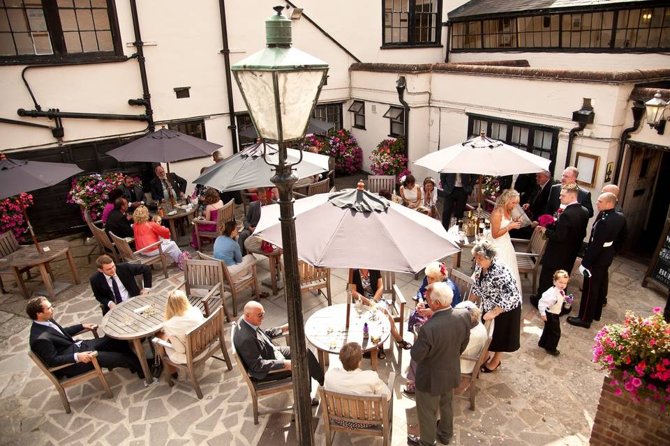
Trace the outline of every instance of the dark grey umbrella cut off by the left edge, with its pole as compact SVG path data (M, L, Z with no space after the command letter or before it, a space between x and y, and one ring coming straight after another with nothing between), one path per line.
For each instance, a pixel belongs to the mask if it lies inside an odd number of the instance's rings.
M0 155L0 198L4 199L22 192L53 186L81 171L82 169L77 167L77 164L10 160L5 155ZM26 208L21 206L21 210L35 247L41 251L33 226L28 220Z

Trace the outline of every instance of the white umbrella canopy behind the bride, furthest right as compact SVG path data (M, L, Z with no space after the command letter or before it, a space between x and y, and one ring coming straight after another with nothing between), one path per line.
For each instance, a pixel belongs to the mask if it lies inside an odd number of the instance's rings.
M502 141L486 137L484 132L461 144L420 157L413 164L435 172L452 174L514 175L549 170L549 163Z

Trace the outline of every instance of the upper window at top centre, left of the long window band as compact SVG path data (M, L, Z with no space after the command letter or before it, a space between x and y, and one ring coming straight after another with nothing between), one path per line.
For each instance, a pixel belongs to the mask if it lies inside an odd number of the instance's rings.
M382 0L384 5L384 45L425 45L440 43L438 0Z

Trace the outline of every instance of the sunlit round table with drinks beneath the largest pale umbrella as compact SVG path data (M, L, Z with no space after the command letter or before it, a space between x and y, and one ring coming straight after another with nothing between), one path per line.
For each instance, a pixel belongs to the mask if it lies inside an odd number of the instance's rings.
M384 345L391 334L391 323L386 314L378 310L373 320L370 307L364 306L359 315L354 304L350 305L349 328L346 328L347 304L331 305L315 312L305 323L305 336L318 351L319 364L325 370L328 353L338 355L348 342L358 342L363 351L371 352L372 369L377 370L377 348ZM363 324L368 323L368 339L363 339ZM379 337L373 342L373 337ZM326 353L324 355L324 353Z

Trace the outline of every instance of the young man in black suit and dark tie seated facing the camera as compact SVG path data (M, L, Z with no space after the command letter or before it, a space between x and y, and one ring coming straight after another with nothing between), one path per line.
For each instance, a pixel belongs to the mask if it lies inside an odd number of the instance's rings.
M100 256L96 259L98 272L94 272L89 282L93 295L96 296L103 316L110 309L124 300L134 298L136 295L147 294L151 289L151 268L149 265L138 265L136 263L114 264L110 256ZM144 287L140 290L135 282L135 276L142 275Z

